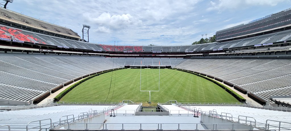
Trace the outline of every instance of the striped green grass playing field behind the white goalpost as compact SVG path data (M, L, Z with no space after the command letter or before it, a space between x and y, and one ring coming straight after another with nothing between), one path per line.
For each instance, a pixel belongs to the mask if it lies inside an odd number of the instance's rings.
M142 69L141 90L157 91L158 82L159 69ZM93 77L72 89L60 101L119 102L122 100L143 103L149 100L149 92L140 91L140 69L117 70ZM207 79L182 71L161 69L160 89L159 92L151 92L151 101L156 103L168 100L238 102L228 92Z

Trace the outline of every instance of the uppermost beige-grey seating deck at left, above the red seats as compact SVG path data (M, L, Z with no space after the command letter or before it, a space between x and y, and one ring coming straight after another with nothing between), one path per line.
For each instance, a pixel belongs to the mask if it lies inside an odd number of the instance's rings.
M10 10L6 10L6 9L0 9L0 15L2 17L6 17L8 19L12 19L12 20L16 20L19 22L19 24L21 23L24 23L24 24L29 24L31 26L36 26L38 28L42 28L42 29L47 29L47 30L50 30L50 31L53 31L53 32L56 32L56 33L64 33L64 34L67 34L67 35L72 35L72 36L78 36L77 33L75 33L74 31L68 29L68 28L65 28L65 27L62 27L62 26L58 26L58 25L54 25L54 24L50 24L50 23L47 23L47 22L43 22L41 20L37 20L35 18L32 18L32 17L28 17L28 16L25 16L25 15L21 15L19 13L16 13L16 12L13 12L13 11L10 11Z

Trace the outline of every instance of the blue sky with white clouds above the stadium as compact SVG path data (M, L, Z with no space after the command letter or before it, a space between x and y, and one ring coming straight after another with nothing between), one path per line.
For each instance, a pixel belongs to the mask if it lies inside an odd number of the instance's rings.
M290 8L290 0L15 0L8 9L116 45L189 45ZM205 38L205 36L203 36Z

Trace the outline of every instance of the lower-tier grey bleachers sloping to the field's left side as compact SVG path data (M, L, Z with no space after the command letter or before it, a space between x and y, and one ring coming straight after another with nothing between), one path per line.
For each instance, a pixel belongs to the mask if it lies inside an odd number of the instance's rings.
M29 101L82 75L122 67L100 56L7 53L0 53L0 65L0 98L19 101Z

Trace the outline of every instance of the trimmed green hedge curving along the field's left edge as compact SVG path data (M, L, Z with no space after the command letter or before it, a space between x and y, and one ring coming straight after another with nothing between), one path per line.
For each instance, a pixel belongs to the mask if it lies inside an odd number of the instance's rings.
M85 79L82 79L81 81L73 84L72 86L66 88L64 91L62 91L60 94L58 94L55 98L54 98L54 101L59 101L65 94L67 94L69 91L71 91L73 88L75 88L76 86L78 86L79 84L85 82L86 80L88 79L91 79L95 76L98 76L98 75L101 75L101 74L104 74L104 73L107 73L107 72L111 72L111 71L114 71L114 70L121 70L121 69L125 69L125 68L116 68L116 69L111 69L111 70L105 70L103 72L100 72L100 73L97 73L96 75L91 75L89 77L86 77Z

